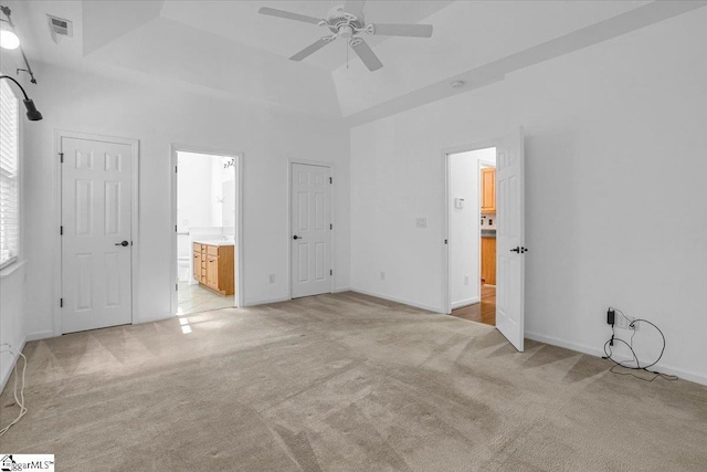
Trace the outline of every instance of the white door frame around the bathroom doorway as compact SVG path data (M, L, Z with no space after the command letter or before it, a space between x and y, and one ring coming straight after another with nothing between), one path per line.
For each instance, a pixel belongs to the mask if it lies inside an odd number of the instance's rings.
M226 150L226 149L217 149L212 147L204 146L192 146L192 145L183 145L172 143L169 147L170 155L170 233L171 233L171 271L169 276L169 290L171 291L171 295L169 297L169 311L170 315L175 316L177 313L177 308L179 307L179 302L177 298L177 290L175 281L177 280L177 153L193 153L193 154L205 154L211 156L223 156L223 157L232 157L235 159L235 238L233 244L235 244L235 264L233 265L233 270L235 271L235 295L234 295L234 306L242 307L246 306L245 302L245 293L244 293L244 283L243 283L243 161L245 160L244 154L241 151ZM172 230L173 229L173 230Z

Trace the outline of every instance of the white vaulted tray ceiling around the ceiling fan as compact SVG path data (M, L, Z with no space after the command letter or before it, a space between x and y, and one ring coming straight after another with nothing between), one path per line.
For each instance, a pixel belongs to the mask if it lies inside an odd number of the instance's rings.
M368 0L367 22L431 23L431 39L369 36L383 63L369 72L341 40L288 61L326 30L257 13L271 7L324 18L320 1L3 1L32 61L176 83L319 118L373 119L463 93L532 63L701 7L650 1ZM74 22L55 44L45 14ZM119 73L119 74L118 74ZM41 77L39 77L41 80ZM463 78L468 86L451 90Z

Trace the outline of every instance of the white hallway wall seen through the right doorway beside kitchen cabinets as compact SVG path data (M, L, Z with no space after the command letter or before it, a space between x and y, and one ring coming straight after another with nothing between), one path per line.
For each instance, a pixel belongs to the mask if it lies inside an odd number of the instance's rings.
M450 296L452 308L481 301L481 162L495 162L496 149L450 155ZM464 199L464 208L454 200Z

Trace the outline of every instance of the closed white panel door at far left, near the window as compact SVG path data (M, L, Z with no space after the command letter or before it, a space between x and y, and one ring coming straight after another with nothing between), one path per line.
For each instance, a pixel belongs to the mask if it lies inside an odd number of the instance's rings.
M131 323L131 147L62 138L62 333Z

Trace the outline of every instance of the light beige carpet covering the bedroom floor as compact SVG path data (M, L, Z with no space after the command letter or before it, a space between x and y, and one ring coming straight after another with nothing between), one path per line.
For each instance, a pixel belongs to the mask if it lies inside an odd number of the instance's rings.
M29 343L30 412L0 450L86 471L707 466L707 388L687 381L518 354L493 327L354 293L186 318Z

